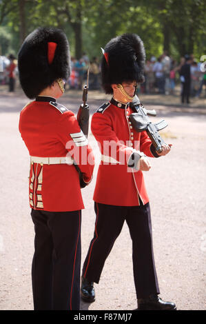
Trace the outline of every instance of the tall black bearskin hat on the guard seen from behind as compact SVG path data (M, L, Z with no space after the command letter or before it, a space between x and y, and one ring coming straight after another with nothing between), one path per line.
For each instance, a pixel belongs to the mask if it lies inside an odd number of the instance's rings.
M37 28L26 37L18 54L19 80L34 99L56 79L70 76L70 47L62 30Z

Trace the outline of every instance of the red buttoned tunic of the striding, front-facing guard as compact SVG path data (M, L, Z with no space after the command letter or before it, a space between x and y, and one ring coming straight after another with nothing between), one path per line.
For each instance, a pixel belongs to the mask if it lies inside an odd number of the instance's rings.
M101 163L96 179L94 201L107 205L133 206L149 201L142 171L127 166L133 150L157 157L146 132L136 132L128 116L130 106L110 101L92 117L92 133L99 143Z

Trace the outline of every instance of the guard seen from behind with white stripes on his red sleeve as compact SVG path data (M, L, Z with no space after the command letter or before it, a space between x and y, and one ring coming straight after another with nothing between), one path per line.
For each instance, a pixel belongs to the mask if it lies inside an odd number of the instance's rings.
M30 153L29 201L34 222L34 310L79 310L81 196L78 165L90 183L94 156L74 113L56 99L70 75L68 40L38 28L19 51L19 78L34 99L21 111L19 131Z

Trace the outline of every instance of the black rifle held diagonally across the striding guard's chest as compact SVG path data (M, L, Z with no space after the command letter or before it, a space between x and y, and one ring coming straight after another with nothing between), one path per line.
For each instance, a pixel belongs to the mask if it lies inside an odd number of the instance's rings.
M130 103L130 107L134 110L134 113L130 114L129 119L136 132L143 132L143 130L145 130L150 137L156 152L161 153L165 141L163 141L160 134L158 134L158 131L167 127L168 124L165 119L158 123L152 123L147 115L156 116L156 111L145 109L136 95L134 96L132 103Z

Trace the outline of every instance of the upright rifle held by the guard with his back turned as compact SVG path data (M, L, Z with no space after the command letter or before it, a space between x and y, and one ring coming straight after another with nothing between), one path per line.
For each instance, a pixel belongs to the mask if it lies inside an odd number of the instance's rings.
M85 84L83 86L83 95L82 95L82 100L83 103L80 105L78 113L77 113L77 121L79 123L79 126L81 128L81 130L83 131L83 134L85 134L85 136L88 136L88 130L89 130L89 119L90 119L90 108L89 105L87 105L87 92L88 92L88 88L89 88L89 68L87 70L87 84ZM79 182L80 182L80 186L81 188L85 188L85 186L87 185L84 181L83 181L83 174L81 172L81 170L79 169L79 166L74 163L74 167L76 168L76 171L79 173Z

